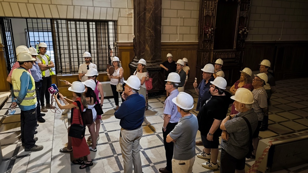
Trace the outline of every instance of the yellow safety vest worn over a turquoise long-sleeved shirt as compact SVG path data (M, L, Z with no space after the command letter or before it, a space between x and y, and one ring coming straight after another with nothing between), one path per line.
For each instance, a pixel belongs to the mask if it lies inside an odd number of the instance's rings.
M15 97L18 97L20 92L20 77L23 72L29 73L25 69L14 69L12 73L12 84L13 84L13 93ZM30 75L30 73L29 73ZM36 104L36 92L35 92L35 81L33 77L30 75L31 81L32 81L32 88L27 90L26 97L22 100L20 105L22 106L31 106Z

